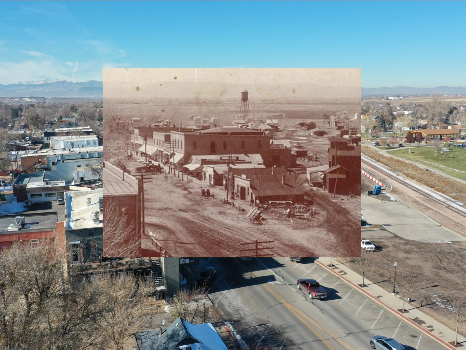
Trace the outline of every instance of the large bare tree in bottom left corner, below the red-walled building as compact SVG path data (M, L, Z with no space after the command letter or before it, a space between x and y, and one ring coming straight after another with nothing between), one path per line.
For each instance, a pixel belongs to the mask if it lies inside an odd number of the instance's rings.
M62 262L49 242L18 242L0 254L1 348L43 348L43 309L62 294Z

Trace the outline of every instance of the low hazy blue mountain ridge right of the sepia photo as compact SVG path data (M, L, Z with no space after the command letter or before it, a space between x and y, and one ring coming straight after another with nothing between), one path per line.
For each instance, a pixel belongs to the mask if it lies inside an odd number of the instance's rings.
M409 86L392 86L379 88L361 88L361 95L462 95L466 94L464 86L437 86L435 88L413 88Z

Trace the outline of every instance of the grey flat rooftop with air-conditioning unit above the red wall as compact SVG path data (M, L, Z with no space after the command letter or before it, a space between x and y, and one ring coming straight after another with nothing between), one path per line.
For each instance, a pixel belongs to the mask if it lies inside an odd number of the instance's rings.
M15 217L24 216L26 221L25 228L19 229L19 232L49 231L55 230L57 222L56 211L37 214L19 213L12 215L0 216L0 234L16 232L16 229L8 230L10 224L14 224Z

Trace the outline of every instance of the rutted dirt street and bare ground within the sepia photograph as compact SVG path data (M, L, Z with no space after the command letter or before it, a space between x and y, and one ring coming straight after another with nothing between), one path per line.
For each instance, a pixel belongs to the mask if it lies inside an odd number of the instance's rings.
M291 140L293 147L300 145L308 149L309 154L318 155L321 163L328 162L328 138L311 136L305 129L295 126L298 121L287 121L290 124L286 127L290 129L277 138ZM312 165L320 164L314 163ZM297 168L298 173L304 172L299 175L302 183L309 164L311 162L302 161ZM126 166L132 170L140 164L130 161ZM201 190L207 188L215 198L201 196ZM144 185L146 234L143 249L153 249L154 238L171 256L247 256L255 254L251 249L255 248L252 243L257 239L273 241L259 244L259 248L264 248L259 250L259 255L356 256L359 253L360 197L336 196L333 199L333 195L323 189L312 189L307 184L304 188L317 209L317 216L311 221L274 218L283 213L281 208L263 211L261 224L253 224L245 217L251 208L246 202L238 201L245 211L220 203L225 197L222 187L208 186L196 179L181 181L169 174L154 175L153 182Z

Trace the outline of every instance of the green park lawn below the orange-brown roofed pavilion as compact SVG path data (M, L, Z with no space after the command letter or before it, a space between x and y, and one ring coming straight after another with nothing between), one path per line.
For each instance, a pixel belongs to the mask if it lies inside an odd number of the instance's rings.
M438 152L441 148L449 148L450 151L445 155L434 154L433 147L411 147L411 153L408 152L408 148L398 148L390 153L410 161L418 161L426 168L435 168L445 174L466 180L466 147L439 147Z

